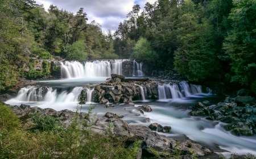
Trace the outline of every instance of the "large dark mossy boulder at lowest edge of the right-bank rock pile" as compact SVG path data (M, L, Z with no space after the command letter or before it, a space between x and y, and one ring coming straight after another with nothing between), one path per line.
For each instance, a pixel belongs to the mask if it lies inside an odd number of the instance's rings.
M231 131L233 135L236 136L252 136L253 132L250 130L249 126L242 122L233 122L230 123L224 128L228 131Z

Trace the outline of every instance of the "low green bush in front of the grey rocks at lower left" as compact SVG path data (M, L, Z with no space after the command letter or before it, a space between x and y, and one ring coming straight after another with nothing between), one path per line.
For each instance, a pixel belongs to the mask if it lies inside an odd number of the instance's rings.
M63 131L63 128L61 127L61 120L59 118L54 118L42 113L35 113L31 119L39 131L52 131L53 133Z

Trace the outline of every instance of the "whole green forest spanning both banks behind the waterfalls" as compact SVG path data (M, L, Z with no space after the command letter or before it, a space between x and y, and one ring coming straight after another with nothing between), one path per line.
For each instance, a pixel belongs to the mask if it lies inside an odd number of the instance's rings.
M158 0L131 8L112 35L87 23L83 8L45 11L33 0L0 0L0 90L16 84L32 57L54 55L136 58L190 81L231 82L256 92L255 15L256 0Z

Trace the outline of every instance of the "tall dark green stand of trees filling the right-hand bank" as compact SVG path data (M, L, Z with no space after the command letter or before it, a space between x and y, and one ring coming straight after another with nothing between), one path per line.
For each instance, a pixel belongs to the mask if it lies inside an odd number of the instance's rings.
M135 5L113 35L115 53L175 69L190 81L231 82L256 92L255 15L255 0Z

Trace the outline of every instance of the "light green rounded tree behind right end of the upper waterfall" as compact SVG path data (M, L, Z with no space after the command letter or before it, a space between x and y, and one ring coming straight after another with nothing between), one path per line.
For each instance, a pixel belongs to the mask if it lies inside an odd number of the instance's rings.
M130 58L141 59L144 61L154 61L158 58L158 54L152 50L150 42L146 38L139 38L138 42L135 44L133 53Z

